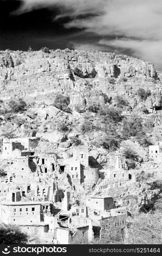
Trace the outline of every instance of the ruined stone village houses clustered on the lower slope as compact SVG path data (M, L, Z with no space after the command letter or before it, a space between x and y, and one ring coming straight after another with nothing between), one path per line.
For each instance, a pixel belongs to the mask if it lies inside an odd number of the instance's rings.
M19 225L28 233L29 243L38 236L40 241L54 244L101 238L105 220L110 220L114 228L125 225L126 208L116 208L111 195L71 201L80 184L95 185L99 179L99 168L90 164L88 146L76 146L60 155L41 155L35 151L39 139L3 140L0 221ZM110 181L119 184L130 180L125 159L116 156L113 162L114 169L107 174Z

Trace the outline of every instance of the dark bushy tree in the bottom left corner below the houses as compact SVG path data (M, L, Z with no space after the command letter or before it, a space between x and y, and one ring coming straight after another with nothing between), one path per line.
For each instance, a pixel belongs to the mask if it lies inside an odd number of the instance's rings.
M1 224L0 244L26 244L28 235L23 233L16 225Z

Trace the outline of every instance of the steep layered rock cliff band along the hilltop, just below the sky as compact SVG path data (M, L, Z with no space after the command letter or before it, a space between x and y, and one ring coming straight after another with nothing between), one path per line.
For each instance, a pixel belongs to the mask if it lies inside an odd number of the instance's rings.
M110 77L115 78L114 86ZM56 92L71 94L71 102L84 101L87 80L94 90L133 92L132 86L116 84L119 77L157 79L151 63L114 53L56 50L50 53L1 51L1 98L37 99ZM151 81L151 80L150 80ZM110 88L109 88L110 87ZM110 89L110 90L109 90ZM86 94L86 93L85 93ZM76 98L76 100L75 100Z

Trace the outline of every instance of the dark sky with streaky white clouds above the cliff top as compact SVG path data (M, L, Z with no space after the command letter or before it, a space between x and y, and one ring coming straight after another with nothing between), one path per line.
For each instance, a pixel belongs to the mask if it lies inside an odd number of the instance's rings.
M161 0L0 0L0 49L100 50L162 71Z

